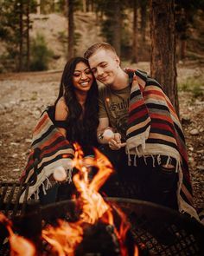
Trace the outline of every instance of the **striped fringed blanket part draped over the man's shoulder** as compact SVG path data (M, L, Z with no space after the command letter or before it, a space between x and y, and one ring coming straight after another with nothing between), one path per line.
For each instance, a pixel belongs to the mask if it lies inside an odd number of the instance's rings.
M133 72L134 71L134 72ZM160 164L172 164L178 172L178 206L196 219L188 171L188 155L182 125L171 102L156 80L141 70L125 69L132 77L126 152L152 156Z

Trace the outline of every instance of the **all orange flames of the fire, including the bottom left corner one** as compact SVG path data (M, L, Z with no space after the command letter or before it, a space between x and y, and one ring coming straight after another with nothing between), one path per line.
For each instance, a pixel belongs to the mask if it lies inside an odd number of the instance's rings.
M78 169L78 173L73 176L73 182L80 193L77 199L81 209L80 218L72 223L58 220L58 226L47 225L41 232L41 240L48 243L51 255L74 256L77 246L83 240L85 224L94 225L97 221L102 221L112 226L114 238L118 239L121 256L127 256L125 237L130 224L125 214L117 206L109 205L99 194L99 188L113 173L112 164L96 148L94 148L94 157L84 157L83 151L77 143L74 144L74 148L75 155L72 165ZM96 167L98 171L90 181L89 171L92 170L92 167ZM114 220L116 214L119 217L119 225ZM35 246L29 240L13 233L10 220L7 220L3 214L0 214L0 221L5 223L10 233L11 255L25 255L23 253L25 251L29 252L26 255L36 255ZM138 247L135 246L134 256L137 255Z

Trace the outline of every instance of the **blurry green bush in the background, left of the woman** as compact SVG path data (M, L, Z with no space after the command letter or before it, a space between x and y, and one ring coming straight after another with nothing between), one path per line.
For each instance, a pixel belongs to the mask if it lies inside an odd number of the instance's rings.
M54 53L48 49L44 37L38 34L31 44L30 70L41 71L48 69L48 62L53 55Z

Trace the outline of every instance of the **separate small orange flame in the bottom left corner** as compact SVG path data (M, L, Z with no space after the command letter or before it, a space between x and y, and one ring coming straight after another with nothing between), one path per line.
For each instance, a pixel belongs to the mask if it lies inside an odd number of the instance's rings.
M12 224L3 213L0 213L0 222L7 228L9 232L9 241L10 241L10 256L35 256L36 249L31 241L23 238L20 235L17 235L12 230Z

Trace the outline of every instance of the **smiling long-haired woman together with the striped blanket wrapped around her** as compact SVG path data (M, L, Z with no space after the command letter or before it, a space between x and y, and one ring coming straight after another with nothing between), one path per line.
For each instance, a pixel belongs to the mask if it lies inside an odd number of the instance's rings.
M61 76L59 95L38 121L31 145L29 160L22 181L29 182L29 198L40 199L41 204L54 202L58 189L71 195L73 184L54 181L54 169L67 167L73 158L73 142L78 142L85 154L92 154L97 146L98 85L88 62L82 57L70 59ZM67 172L69 181L73 170ZM63 188L63 189L62 189ZM65 189L67 190L65 192ZM70 190L71 189L71 190ZM23 192L21 200L23 200Z

